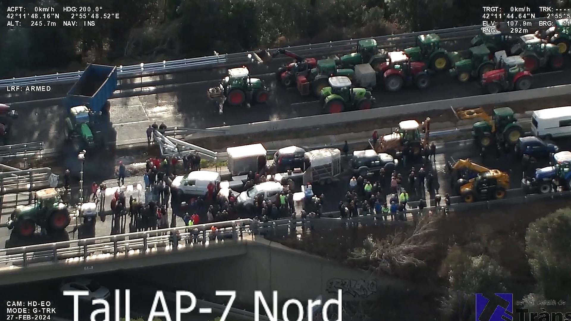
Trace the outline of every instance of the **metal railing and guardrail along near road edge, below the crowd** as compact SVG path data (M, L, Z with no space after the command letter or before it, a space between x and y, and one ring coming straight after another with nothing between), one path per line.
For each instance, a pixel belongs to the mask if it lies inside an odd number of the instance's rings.
M450 211L460 211L475 208L492 208L496 205L525 204L541 199L568 198L570 191L552 192L547 194L517 195L522 192L522 188L515 188L508 191L510 196L505 199L489 200L475 203L454 203ZM453 198L456 199L456 198ZM414 203L411 202L411 206ZM440 210L440 207L438 210ZM436 210L432 206L424 209L424 214L428 210ZM417 208L408 210L407 213L417 213ZM209 246L210 242L228 239L239 242L248 234L254 235L283 235L296 233L297 227L304 230L329 229L346 226L360 226L368 224L383 224L380 216L363 215L351 219L340 218L316 218L316 219L279 219L270 222L259 222L254 219L239 219L227 222L216 222L199 224L196 226L184 226L164 228L162 230L152 230L144 232L134 232L111 236L100 236L89 239L70 240L65 242L55 242L38 244L32 246L3 248L0 250L0 264L4 266L27 267L30 264L40 262L53 262L55 264L65 264L73 262L85 262L98 259L100 256L122 256L127 258L130 255L149 255L152 252L177 251L194 246ZM215 231L211 230L216 226Z

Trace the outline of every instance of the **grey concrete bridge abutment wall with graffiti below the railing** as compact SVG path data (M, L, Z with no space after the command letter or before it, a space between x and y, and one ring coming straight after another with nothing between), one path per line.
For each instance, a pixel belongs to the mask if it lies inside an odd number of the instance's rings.
M345 301L375 299L412 287L267 240L248 242L246 255L160 267L166 275L180 275L177 278L158 280L155 269L144 269L136 275L170 288L204 294L211 300L215 299L215 290L236 290L236 300L246 307L254 304L255 290L263 291L266 300L276 290L278 301L284 302L289 298L315 299L319 295L328 298L341 289Z

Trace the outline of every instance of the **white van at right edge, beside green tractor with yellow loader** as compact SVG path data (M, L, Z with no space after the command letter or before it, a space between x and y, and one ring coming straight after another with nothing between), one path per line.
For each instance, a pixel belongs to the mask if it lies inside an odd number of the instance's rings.
M571 106L533 111L532 133L539 138L571 135Z

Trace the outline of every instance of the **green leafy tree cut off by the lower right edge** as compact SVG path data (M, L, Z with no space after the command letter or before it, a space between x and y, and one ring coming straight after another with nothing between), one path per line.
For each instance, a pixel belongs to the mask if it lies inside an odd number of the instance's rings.
M536 293L547 299L568 298L571 288L571 209L529 224L525 251L537 280Z

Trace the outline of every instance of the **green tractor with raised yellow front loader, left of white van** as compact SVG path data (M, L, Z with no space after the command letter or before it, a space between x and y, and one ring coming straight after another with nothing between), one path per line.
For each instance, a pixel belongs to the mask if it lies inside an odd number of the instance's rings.
M472 125L472 137L480 147L489 147L492 144L514 146L524 133L509 107L496 108L492 115L481 107L452 111L458 119L482 119Z

